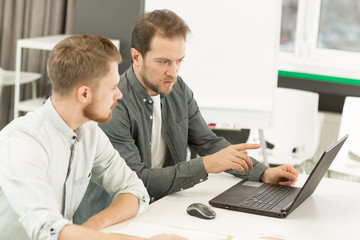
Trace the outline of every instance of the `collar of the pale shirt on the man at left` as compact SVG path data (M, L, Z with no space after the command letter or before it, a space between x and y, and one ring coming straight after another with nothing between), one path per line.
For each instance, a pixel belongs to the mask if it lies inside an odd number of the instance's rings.
M64 122L58 112L55 110L50 98L44 104L44 110L49 121L55 126L57 130L69 141L70 145L81 137L82 126L75 130L75 132Z

